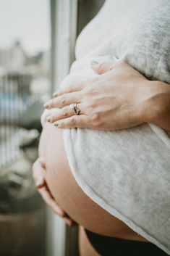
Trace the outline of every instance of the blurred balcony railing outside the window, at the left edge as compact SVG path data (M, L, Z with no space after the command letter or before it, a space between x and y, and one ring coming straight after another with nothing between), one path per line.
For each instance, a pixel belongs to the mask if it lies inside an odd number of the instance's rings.
M30 102L30 74L0 76L0 170L20 154L20 116Z

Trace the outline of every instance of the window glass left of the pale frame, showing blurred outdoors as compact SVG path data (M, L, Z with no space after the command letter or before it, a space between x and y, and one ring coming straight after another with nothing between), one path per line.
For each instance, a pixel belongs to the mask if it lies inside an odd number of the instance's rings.
M0 255L46 255L46 207L35 189L49 81L48 0L0 0Z

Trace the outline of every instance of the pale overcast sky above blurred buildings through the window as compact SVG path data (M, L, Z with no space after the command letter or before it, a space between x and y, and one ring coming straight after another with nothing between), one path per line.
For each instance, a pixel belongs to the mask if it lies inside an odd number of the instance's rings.
M0 0L0 48L17 40L30 54L49 49L49 0Z

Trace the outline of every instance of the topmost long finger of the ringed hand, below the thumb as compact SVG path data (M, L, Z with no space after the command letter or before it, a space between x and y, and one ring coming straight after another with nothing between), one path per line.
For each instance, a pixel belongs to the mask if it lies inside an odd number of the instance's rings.
M67 88L61 88L59 91L55 91L53 96L59 96L61 94L68 94L75 91L81 91L83 88L85 88L85 80L80 80L77 83L75 83L72 86L69 86Z

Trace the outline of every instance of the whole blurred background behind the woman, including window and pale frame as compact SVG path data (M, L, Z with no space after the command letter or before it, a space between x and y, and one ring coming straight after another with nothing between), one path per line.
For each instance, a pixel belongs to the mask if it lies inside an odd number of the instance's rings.
M0 0L0 256L78 255L35 189L43 103L69 72L75 40L103 0Z

